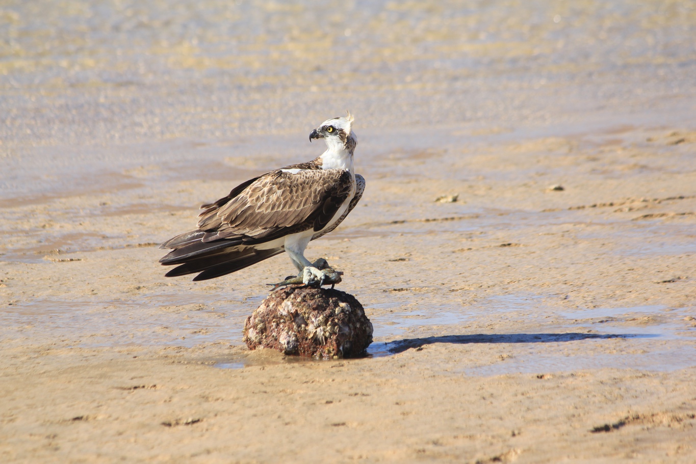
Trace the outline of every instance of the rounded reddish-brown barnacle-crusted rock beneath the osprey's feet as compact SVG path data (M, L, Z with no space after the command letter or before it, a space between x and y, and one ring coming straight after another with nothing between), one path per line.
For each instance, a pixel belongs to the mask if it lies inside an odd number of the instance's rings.
M372 343L372 323L345 291L292 285L271 293L246 318L244 342L252 350L350 358Z

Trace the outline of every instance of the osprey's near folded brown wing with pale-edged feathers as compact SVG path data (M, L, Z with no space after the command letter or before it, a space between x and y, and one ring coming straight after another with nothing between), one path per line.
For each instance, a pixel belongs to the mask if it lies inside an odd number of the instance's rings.
M299 167L284 169L293 168ZM342 169L310 168L294 174L275 170L207 205L198 228L206 232L203 242L237 238L259 243L312 228L319 231L348 198L351 184L350 173Z

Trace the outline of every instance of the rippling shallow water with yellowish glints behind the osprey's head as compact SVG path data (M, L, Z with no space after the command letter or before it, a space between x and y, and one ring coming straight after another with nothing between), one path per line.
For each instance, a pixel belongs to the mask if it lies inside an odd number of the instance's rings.
M693 1L13 0L0 13L3 197L272 151L345 109L378 150L422 147L438 127L535 137L693 110Z

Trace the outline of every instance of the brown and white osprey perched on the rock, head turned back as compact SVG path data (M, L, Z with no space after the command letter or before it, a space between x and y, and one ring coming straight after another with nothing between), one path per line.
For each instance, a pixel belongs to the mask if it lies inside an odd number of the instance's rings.
M199 273L193 280L212 279L285 252L304 284L340 281L326 260L311 263L304 251L311 240L334 230L363 196L365 179L353 170L358 141L352 122L347 113L312 131L310 142L326 142L321 156L249 179L203 205L198 229L159 247L171 250L161 264L179 264L166 276Z

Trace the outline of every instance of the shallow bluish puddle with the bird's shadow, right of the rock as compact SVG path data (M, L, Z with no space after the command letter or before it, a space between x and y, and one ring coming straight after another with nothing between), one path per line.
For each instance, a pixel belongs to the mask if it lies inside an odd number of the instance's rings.
M466 311L466 312L465 312ZM483 314L491 313L523 312L527 321L530 319L545 319L548 317L562 317L557 324L545 326L544 332L529 334L472 334L461 330L461 322L464 319L482 318ZM528 353L515 355L511 360L503 364L482 366L475 368L463 368L462 371L470 375L498 375L514 372L555 372L573 371L578 369L599 369L602 367L628 367L633 369L649 369L670 371L691 367L695 362L696 354L694 346L665 344L668 341L683 340L693 342L696 331L684 330L683 318L686 314L693 314L693 308L681 311L673 311L658 305L646 305L639 307L597 307L578 308L572 312L553 312L535 301L530 301L529 296L506 296L491 298L475 307L462 308L462 313L436 313L429 317L408 320L401 323L401 333L393 332L389 335L377 335L377 340L391 340L389 342L374 342L367 350L372 356L388 356L402 353L407 349L420 349L430 344L525 344L530 346ZM465 315L466 314L466 315ZM663 316L660 321L649 321L656 315ZM392 318L399 320L399 317ZM644 325L641 321L645 321ZM626 323L628 321L628 323ZM638 321L638 322L636 322ZM398 324L397 322L393 322ZM451 335L437 335L422 338L402 339L395 335L402 335L403 330L413 326L441 326L439 333ZM636 325L638 324L638 325ZM459 335L461 334L461 335ZM631 342L631 348L624 347L613 353L583 353L580 346L584 341L626 339ZM644 346L641 343L644 342ZM535 344L555 344L558 348L549 347L548 350L537 350L531 347ZM568 344L568 346L564 346ZM647 345L654 347L662 344L661 349L648 353ZM563 348L560 348L563 347ZM571 354L561 352L578 350ZM638 351L638 353L635 353Z

